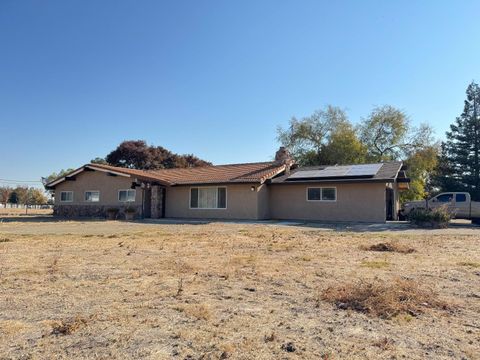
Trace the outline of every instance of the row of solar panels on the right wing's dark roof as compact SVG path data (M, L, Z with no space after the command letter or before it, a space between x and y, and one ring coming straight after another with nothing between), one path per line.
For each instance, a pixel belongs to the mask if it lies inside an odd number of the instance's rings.
M382 164L327 166L318 170L299 170L288 177L290 179L318 179L342 177L373 177Z

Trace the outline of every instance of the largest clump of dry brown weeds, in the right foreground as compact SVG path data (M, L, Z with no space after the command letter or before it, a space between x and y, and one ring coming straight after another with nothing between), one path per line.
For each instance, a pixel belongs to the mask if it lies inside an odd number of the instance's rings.
M338 309L355 310L384 319L399 314L418 316L427 309L448 310L452 307L439 300L432 289L405 279L337 285L326 289L321 299L335 304Z

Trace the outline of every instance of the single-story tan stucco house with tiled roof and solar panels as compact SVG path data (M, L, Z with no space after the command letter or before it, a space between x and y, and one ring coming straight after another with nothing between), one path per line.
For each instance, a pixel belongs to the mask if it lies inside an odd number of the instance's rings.
M139 218L279 219L385 222L397 218L408 188L402 162L294 164L281 148L275 161L162 170L86 164L47 184L54 214L105 216L126 208Z

